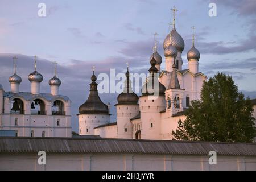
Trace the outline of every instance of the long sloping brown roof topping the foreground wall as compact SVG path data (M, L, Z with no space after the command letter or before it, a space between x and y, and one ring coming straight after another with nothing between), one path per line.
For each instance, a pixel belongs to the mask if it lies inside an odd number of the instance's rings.
M97 138L0 137L0 152L52 153L131 153L256 156L256 143L185 142L171 140L133 140Z

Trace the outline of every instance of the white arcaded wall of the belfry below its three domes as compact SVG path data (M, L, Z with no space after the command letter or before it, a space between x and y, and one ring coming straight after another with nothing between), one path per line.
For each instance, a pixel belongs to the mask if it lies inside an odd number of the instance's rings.
M23 101L24 114L10 113L10 102L14 98L19 98ZM52 115L53 101L47 101L40 96L35 96L33 100L36 98L44 102L46 115L31 115L31 101L24 100L22 97L15 96L10 100L6 98L4 100L4 113L0 114L0 130L16 130L19 137L30 137L31 132L34 133L34 137L42 137L43 133L44 137L71 137L70 101L57 98L64 104L65 115ZM18 125L15 125L15 120L17 120ZM58 120L59 126L57 126Z

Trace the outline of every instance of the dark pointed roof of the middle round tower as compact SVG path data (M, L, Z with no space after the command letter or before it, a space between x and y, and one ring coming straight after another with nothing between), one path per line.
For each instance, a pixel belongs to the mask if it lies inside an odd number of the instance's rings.
M125 73L126 80L125 80L125 89L123 89L123 92L118 95L117 101L118 104L138 104L138 96L133 92L133 89L131 89L131 80L130 80L130 72L127 68L127 72Z

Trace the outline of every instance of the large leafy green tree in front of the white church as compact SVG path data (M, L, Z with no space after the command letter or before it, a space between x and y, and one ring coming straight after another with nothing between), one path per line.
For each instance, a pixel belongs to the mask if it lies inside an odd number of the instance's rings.
M179 140L252 142L256 130L253 105L231 76L217 73L204 81L201 100L191 101L186 119L172 134Z

